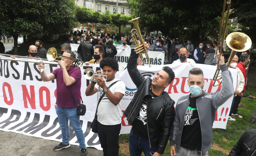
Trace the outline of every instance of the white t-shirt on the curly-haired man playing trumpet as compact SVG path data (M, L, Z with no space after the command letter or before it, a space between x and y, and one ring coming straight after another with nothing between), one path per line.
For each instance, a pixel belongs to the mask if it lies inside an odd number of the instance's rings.
M113 82L118 81L117 78L110 82L105 82L106 86L109 87ZM104 93L103 89L100 88L97 84L94 86L98 89L97 104L101 94ZM114 94L115 92L120 92L124 95L125 93L125 84L122 81L117 82L109 88L109 90ZM98 112L97 112L98 122L102 125L117 125L121 123L122 109L121 109L121 100L117 105L111 103L105 94L101 99Z

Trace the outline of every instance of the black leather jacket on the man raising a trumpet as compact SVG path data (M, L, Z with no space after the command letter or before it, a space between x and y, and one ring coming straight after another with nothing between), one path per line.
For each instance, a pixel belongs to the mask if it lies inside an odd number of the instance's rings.
M158 97L154 98L150 90L152 89L152 79L143 77L137 69L138 55L131 51L130 58L127 63L127 70L133 83L138 87L133 100L124 111L127 121L132 125L140 112L144 96L150 95L152 98L147 103L147 130L150 148L159 145L156 152L163 154L170 129L174 119L174 101L167 92L162 92Z

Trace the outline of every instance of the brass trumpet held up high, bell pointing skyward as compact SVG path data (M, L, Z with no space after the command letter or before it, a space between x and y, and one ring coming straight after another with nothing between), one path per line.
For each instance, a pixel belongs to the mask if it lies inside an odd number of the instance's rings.
M142 38L141 33L140 33L140 28L139 28L139 24L138 24L138 19L139 19L139 18L140 18L140 17L129 21L129 22L132 22L132 23L134 24L135 28L136 28L136 29L132 29L132 30L131 30L132 37L133 37L134 43L135 43L135 45L136 45L135 52L136 52L136 54L139 54L139 56L140 56L140 58L141 58L141 60L142 60L142 62L143 62L144 64L148 64L149 67L151 67L151 65L150 65L150 63L149 63L150 59L149 59L149 56L148 56L148 54L147 54L147 49L146 49L146 46L145 46L145 44L144 44L143 38ZM138 34L138 36L139 36L139 40L140 40L141 45L139 45L139 43L138 43L138 41L137 41L137 39L136 39L136 36L133 34L133 31L136 31L136 32L137 32L137 34ZM144 62L144 61L143 61L143 56L142 56L142 54L143 54L142 52L143 52L143 51L146 52L145 55L146 55L147 62Z

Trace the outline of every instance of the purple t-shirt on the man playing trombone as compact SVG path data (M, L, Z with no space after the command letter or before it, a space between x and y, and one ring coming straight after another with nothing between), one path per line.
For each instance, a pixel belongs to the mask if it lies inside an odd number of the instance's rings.
M64 82L62 68L57 68L51 73L55 76L57 83L56 104L61 107L77 107ZM70 67L68 74L75 79L75 82L69 86L69 89L79 104L81 101L81 70L77 67Z

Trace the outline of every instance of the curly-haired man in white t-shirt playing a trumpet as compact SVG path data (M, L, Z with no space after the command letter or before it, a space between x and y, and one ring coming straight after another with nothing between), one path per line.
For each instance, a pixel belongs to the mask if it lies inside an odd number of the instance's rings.
M85 95L91 96L98 93L98 103L103 92L106 93L97 110L99 142L104 155L118 156L122 117L121 99L125 92L125 84L115 77L115 73L119 71L118 62L115 58L104 58L100 61L99 66L102 69L102 74L108 76L107 80L105 82L101 76L101 78L97 78L97 84L92 81L86 88ZM115 84L108 88L113 83Z

